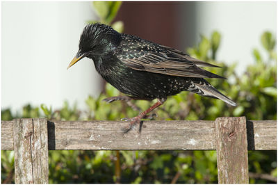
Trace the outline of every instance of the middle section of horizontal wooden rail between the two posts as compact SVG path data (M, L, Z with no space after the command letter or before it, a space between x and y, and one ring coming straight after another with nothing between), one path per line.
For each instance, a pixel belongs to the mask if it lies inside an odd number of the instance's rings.
M49 122L50 150L213 150L213 122L152 121L123 134L129 122ZM54 133L55 132L55 133ZM55 136L55 137L54 137Z

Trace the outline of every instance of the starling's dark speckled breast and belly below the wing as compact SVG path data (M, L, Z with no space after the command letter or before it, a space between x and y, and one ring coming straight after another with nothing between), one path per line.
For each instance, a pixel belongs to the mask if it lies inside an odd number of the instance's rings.
M141 99L163 98L175 95L189 86L190 81L183 77L133 70L117 58L95 62L97 72L108 83L126 95Z

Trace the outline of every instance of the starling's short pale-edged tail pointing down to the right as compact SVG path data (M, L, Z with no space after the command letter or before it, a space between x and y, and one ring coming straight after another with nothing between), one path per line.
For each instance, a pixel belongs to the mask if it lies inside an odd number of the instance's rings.
M205 79L198 82L193 81L193 84L195 85L195 90L193 91L194 93L206 97L214 97L217 99L221 99L223 102L226 102L231 106L236 106L236 102L234 102L233 100L229 99L229 97L226 97L225 95L220 93L217 89L211 86L211 84L208 83Z

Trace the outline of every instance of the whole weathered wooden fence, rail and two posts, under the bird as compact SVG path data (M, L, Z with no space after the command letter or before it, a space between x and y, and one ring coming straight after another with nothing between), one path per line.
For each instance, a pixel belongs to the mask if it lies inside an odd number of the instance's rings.
M219 183L248 183L247 150L277 150L275 120L145 121L123 134L126 122L2 121L1 150L15 150L15 183L48 183L48 150L216 150Z

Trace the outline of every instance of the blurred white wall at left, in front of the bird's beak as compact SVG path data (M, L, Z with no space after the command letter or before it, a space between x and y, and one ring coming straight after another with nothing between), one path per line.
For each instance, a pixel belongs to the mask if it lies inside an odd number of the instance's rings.
M1 107L53 108L100 93L99 75L87 58L67 70L90 19L90 2L1 2ZM95 92L95 93L94 93Z

